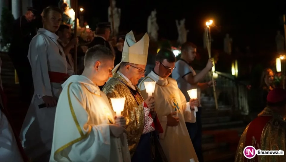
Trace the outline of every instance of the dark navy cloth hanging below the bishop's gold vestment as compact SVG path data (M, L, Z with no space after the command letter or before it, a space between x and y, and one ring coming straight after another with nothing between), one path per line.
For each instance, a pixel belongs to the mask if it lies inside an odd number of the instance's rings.
M138 146L131 162L152 162L151 154L151 133L143 134L140 137Z

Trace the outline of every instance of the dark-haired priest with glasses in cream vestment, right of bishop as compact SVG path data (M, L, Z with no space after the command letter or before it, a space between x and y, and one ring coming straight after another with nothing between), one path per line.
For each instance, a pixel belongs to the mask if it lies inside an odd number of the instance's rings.
M185 122L196 122L194 106L198 101L186 101L175 79L170 78L176 57L169 49L161 49L156 65L138 85L143 98L148 98L144 82L156 82L153 96L155 110L163 127L160 143L169 162L198 162Z

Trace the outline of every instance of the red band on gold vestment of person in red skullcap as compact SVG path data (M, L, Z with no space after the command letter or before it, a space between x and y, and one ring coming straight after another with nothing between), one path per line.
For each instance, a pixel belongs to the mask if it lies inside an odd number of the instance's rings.
M265 125L270 121L270 119L272 119L272 116L259 116L250 123L246 133L245 147L252 146L252 137L254 137L256 140L256 144L254 144L253 147L256 150L259 149L257 144L259 144L261 147L261 134ZM247 160L247 158L244 158L244 162L247 162ZM253 162L258 162L257 155L251 160L254 160Z

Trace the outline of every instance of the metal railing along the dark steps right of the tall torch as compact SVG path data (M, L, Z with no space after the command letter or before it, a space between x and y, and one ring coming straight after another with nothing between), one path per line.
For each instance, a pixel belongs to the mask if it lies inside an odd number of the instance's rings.
M248 82L238 81L235 76L228 73L216 71L216 74L216 95L219 105L230 106L233 111L240 111L241 114L248 115ZM208 73L201 82L207 82L210 79L210 73ZM213 97L212 88L209 88L206 93L209 97Z

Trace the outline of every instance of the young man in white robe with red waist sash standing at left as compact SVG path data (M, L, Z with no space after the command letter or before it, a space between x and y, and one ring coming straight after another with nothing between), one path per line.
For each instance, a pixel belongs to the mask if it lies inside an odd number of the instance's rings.
M54 114L61 84L67 79L67 60L58 44L61 10L47 7L43 11L43 28L32 39L28 59L32 67L34 95L24 119L20 139L33 161L49 160L54 129ZM52 21L52 19L56 19Z

